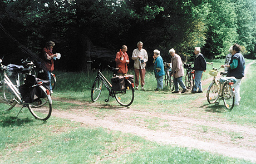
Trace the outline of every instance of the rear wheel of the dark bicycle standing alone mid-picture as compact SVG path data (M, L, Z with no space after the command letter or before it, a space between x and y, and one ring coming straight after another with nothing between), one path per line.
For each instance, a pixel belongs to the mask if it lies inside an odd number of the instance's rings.
M124 91L114 91L116 101L122 106L130 106L134 101L134 88L127 82L126 89Z

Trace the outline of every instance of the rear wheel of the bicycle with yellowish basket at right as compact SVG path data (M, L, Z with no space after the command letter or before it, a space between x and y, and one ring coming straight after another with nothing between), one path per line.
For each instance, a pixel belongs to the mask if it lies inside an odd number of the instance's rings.
M224 105L228 110L232 110L235 103L235 96L232 87L225 82L222 88Z

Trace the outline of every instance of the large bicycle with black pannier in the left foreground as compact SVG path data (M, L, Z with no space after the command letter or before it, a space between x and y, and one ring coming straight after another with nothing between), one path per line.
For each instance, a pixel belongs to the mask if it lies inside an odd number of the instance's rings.
M35 118L45 121L50 118L52 112L50 91L44 86L46 82L40 79L37 80L35 76L29 75L31 70L29 68L9 70L2 64L2 59L0 59L0 71L3 74L3 79L0 81L1 110L12 110L18 103L22 105L22 108L28 107L28 110ZM11 74L10 78L7 74ZM19 79L22 76L25 76L26 79L24 84L20 85L21 81ZM48 102L47 106L42 106L41 104L45 100Z

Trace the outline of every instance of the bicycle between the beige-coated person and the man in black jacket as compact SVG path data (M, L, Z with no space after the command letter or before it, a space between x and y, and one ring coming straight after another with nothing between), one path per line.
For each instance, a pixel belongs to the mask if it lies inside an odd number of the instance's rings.
M195 71L191 65L192 63L184 63L184 68L186 69L185 86L188 90L192 91L195 85Z

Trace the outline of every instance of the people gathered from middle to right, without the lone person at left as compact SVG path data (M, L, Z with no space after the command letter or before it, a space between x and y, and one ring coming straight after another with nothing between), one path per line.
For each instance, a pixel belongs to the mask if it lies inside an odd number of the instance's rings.
M135 71L135 90L139 90L139 77L140 77L140 85L141 90L145 91L145 73L146 73L146 62L148 60L147 52L142 48L143 43L138 42L136 49L132 52L132 59L134 60L134 71ZM237 82L234 84L235 88L235 105L238 106L240 103L240 83L242 77L244 77L244 68L245 62L244 57L240 53L241 47L238 44L234 44L229 48L229 54L225 59L225 64L221 65L221 67L225 68L225 72L228 73L228 77L233 76L237 79ZM128 71L127 64L129 64L129 57L126 53L127 46L122 46L120 51L116 54L116 67L119 68L118 75L125 75ZM182 78L184 76L184 68L183 63L179 54L175 53L174 48L169 50L171 55L171 64L172 64L172 76L174 77L174 86L175 91L172 93L179 93L179 86L182 88L181 93L188 92ZM194 67L195 70L195 84L191 93L203 93L202 85L201 85L201 77L203 72L206 71L206 61L201 54L200 47L195 47L195 61ZM157 81L157 88L155 91L163 90L163 81L164 81L164 62L163 58L160 56L160 51L154 50L154 73Z

